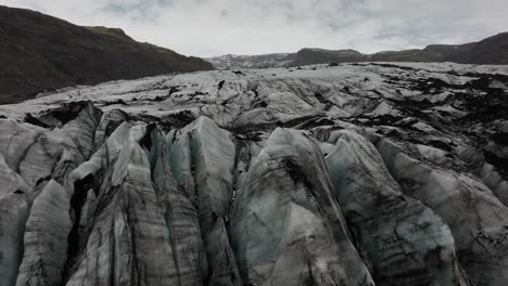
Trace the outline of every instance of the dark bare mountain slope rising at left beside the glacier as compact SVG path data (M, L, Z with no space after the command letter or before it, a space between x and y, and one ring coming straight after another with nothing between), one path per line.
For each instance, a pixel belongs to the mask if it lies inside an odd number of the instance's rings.
M81 27L24 9L0 6L0 103L47 89L173 72L213 69L122 29Z

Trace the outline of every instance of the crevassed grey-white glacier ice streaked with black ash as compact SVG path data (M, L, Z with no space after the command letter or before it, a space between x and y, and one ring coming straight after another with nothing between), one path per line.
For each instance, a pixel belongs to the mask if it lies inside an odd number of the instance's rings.
M507 91L344 64L2 105L0 285L507 285Z

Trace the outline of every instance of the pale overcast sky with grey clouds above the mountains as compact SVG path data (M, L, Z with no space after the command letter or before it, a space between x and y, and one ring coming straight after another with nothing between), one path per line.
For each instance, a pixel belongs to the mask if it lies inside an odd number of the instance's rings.
M508 31L508 0L0 0L186 55L371 53Z

